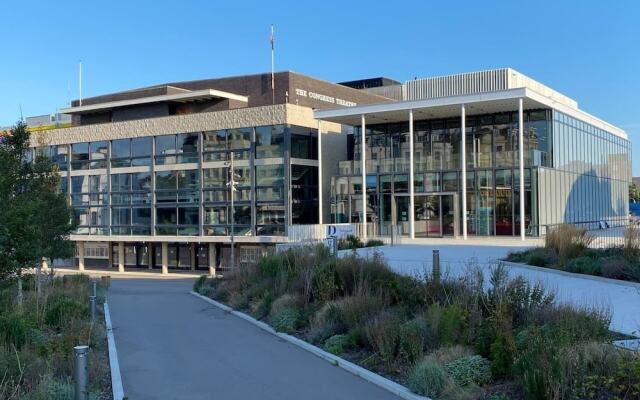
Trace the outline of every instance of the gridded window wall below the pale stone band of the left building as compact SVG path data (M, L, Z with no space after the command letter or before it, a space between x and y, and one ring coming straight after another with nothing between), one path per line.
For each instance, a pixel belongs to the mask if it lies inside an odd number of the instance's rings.
M76 234L229 235L232 153L236 235L284 235L288 223L318 221L317 161L295 162L317 160L311 128L245 127L36 150L63 174Z

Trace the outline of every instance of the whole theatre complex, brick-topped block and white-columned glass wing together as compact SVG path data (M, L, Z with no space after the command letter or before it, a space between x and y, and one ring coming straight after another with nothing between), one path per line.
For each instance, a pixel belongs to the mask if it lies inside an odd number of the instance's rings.
M242 265L329 223L464 240L627 221L626 133L509 68L174 82L62 112L72 126L33 145L60 169L81 268L228 268L232 241Z

